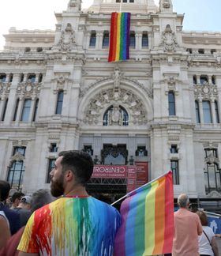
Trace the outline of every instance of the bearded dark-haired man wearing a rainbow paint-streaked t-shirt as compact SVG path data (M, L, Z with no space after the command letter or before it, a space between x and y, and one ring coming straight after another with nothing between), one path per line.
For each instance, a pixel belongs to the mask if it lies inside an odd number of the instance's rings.
M19 255L113 254L121 218L114 207L88 195L85 186L92 172L87 153L59 154L51 171L51 194L60 198L32 214L18 246Z

